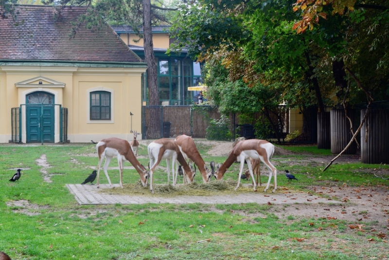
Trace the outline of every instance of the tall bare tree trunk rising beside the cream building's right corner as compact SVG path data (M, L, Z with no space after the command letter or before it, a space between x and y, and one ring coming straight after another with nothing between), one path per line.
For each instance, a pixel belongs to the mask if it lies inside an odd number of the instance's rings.
M154 47L153 47L153 34L151 28L151 1L142 0L143 7L143 47L144 47L144 59L147 62L147 85L149 88L149 105L159 106L159 89L157 68L155 65ZM158 110L150 110L150 125L147 131L159 132L160 119Z

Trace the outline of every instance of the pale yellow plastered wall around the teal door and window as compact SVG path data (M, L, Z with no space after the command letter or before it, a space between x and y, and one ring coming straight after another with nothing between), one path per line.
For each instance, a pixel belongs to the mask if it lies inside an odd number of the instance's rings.
M131 140L130 130L141 132L141 73L145 68L81 68L0 66L0 142L11 140L11 108L26 103L26 94L46 91L54 95L55 104L68 108L68 139L71 142L99 141L107 137ZM53 87L53 82L41 80L18 85L44 76L65 85ZM89 92L108 90L111 93L111 121L89 120ZM23 108L24 107L24 108ZM59 106L55 108L55 142L59 141ZM25 106L22 106L25 113ZM132 126L130 111L132 116ZM21 120L22 141L25 142L25 114ZM141 138L141 136L139 137Z

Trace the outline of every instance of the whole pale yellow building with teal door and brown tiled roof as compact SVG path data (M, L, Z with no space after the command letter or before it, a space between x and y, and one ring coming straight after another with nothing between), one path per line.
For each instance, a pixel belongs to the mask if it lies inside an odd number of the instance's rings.
M15 21L0 19L0 143L130 140L141 131L147 66L108 25L81 24L71 37L84 7L16 8Z

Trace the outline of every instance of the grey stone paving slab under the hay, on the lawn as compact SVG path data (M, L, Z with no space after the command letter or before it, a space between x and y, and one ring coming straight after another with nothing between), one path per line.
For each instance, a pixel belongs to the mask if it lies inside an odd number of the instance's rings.
M179 196L179 197L158 197L158 196L134 196L118 195L99 192L101 189L109 188L108 184L100 184L98 189L96 185L67 184L66 185L79 204L146 204L146 203L170 203L170 204L296 204L296 203L341 203L315 195L296 192L296 193L243 193L239 195L220 195L220 196ZM113 185L120 188L120 186Z

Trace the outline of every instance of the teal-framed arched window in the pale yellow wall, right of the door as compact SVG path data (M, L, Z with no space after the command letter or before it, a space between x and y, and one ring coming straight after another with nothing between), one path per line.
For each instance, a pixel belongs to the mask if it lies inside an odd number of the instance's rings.
M95 91L90 93L90 120L111 119L111 93Z

